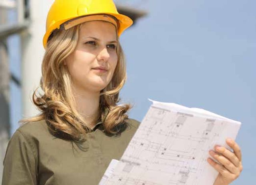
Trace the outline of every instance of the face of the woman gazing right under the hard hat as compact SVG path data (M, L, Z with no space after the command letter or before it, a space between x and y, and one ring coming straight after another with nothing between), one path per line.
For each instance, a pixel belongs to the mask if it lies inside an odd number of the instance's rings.
M64 62L75 90L99 93L109 84L118 60L116 46L113 24L104 21L82 24L76 49Z

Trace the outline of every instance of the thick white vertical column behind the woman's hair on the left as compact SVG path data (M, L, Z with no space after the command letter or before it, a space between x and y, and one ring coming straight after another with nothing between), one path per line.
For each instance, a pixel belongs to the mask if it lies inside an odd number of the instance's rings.
M22 36L22 109L23 117L38 114L32 103L33 91L39 86L44 55L42 39L46 16L54 0L30 0L31 24Z

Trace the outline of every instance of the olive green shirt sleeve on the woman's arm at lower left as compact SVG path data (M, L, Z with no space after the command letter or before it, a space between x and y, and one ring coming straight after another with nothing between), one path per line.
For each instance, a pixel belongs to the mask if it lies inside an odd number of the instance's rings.
M37 184L37 157L32 146L32 139L26 139L21 131L14 133L4 157L2 185Z

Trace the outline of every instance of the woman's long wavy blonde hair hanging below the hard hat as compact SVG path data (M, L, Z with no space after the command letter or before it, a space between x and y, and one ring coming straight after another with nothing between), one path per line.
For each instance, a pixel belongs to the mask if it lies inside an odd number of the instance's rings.
M84 118L76 110L70 74L64 65L64 60L76 48L80 26L52 33L42 61L40 88L43 93L39 93L39 88L33 93L33 102L41 113L20 121L25 123L44 119L52 134L74 141L85 141L84 136L89 131L84 126ZM117 54L118 62L113 78L100 92L97 120L102 121L105 132L110 134L120 133L126 127L126 112L131 108L130 104L117 105L119 92L126 81L126 63L119 41Z

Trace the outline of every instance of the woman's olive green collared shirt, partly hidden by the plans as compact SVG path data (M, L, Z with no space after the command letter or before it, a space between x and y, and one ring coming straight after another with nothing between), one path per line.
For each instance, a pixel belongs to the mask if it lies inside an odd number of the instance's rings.
M54 137L45 121L22 125L9 141L2 185L98 185L138 128L138 121L126 122L118 136L106 135L98 123L81 145Z

